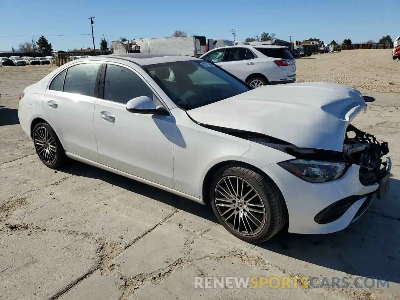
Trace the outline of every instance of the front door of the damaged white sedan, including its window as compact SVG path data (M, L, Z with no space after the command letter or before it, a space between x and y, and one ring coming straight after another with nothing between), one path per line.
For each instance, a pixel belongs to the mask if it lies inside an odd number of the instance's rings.
M107 63L94 108L100 162L111 168L172 188L172 116L128 112L139 96L156 99L154 90L132 66Z

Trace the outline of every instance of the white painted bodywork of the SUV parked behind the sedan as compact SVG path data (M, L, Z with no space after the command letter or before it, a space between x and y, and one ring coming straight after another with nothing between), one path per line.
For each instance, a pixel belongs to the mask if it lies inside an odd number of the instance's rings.
M224 50L232 50L232 49L246 49L247 51L251 51L253 56L250 59L240 59L235 61L224 61L223 54L218 55L217 58L212 59L212 61L224 68L228 72L232 73L236 77L241 80L248 82L248 80L252 76L265 76L268 80L269 84L278 84L278 83L292 83L296 80L296 60L294 57L291 58L277 58L277 57L269 57L262 54L259 49L286 49L284 46L274 46L274 45L237 45L237 46L223 46L216 49L213 49L206 54L203 54L201 58L210 60L213 54L223 52ZM288 52L290 54L290 52ZM246 55L247 56L247 55ZM283 60L290 63L288 66L278 66L275 61Z

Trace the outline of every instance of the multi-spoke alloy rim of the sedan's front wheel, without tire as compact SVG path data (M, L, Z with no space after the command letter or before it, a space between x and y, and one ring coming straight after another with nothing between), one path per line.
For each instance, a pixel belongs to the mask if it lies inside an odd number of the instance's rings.
M261 197L243 178L222 177L216 185L214 201L224 222L239 234L258 234L265 226L266 214Z

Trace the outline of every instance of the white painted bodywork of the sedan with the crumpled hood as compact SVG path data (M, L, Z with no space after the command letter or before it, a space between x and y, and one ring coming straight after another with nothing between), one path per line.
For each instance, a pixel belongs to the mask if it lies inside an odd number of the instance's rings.
M342 198L378 189L379 184L361 184L357 164L352 164L339 179L310 183L278 165L296 156L268 143L203 126L205 123L251 131L296 146L342 151L344 130L366 107L359 91L328 83L262 87L185 111L140 65L204 60L140 55L74 60L28 86L18 109L22 129L32 138L32 122L40 118L54 129L68 157L200 203L207 199L204 180L214 166L230 161L246 163L269 176L282 192L289 216L288 230L294 233L320 234L347 227L358 218L358 209L368 201L367 197L357 200L328 224L318 224L313 218ZM85 63L114 64L135 72L168 115L132 113L124 104L48 89L63 70ZM207 67L216 68L211 64ZM114 118L114 122L106 122L102 113Z

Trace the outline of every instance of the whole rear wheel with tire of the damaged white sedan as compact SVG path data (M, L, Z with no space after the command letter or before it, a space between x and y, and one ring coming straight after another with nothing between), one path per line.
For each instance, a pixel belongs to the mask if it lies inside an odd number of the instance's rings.
M32 138L35 145L36 154L40 160L49 168L60 168L66 161L65 150L62 147L57 134L53 128L47 123L38 123L33 129ZM40 141L47 143L46 146L41 146ZM53 142L52 142L53 141ZM55 150L55 154L53 152ZM47 153L47 154L44 154ZM54 157L53 157L54 156Z

